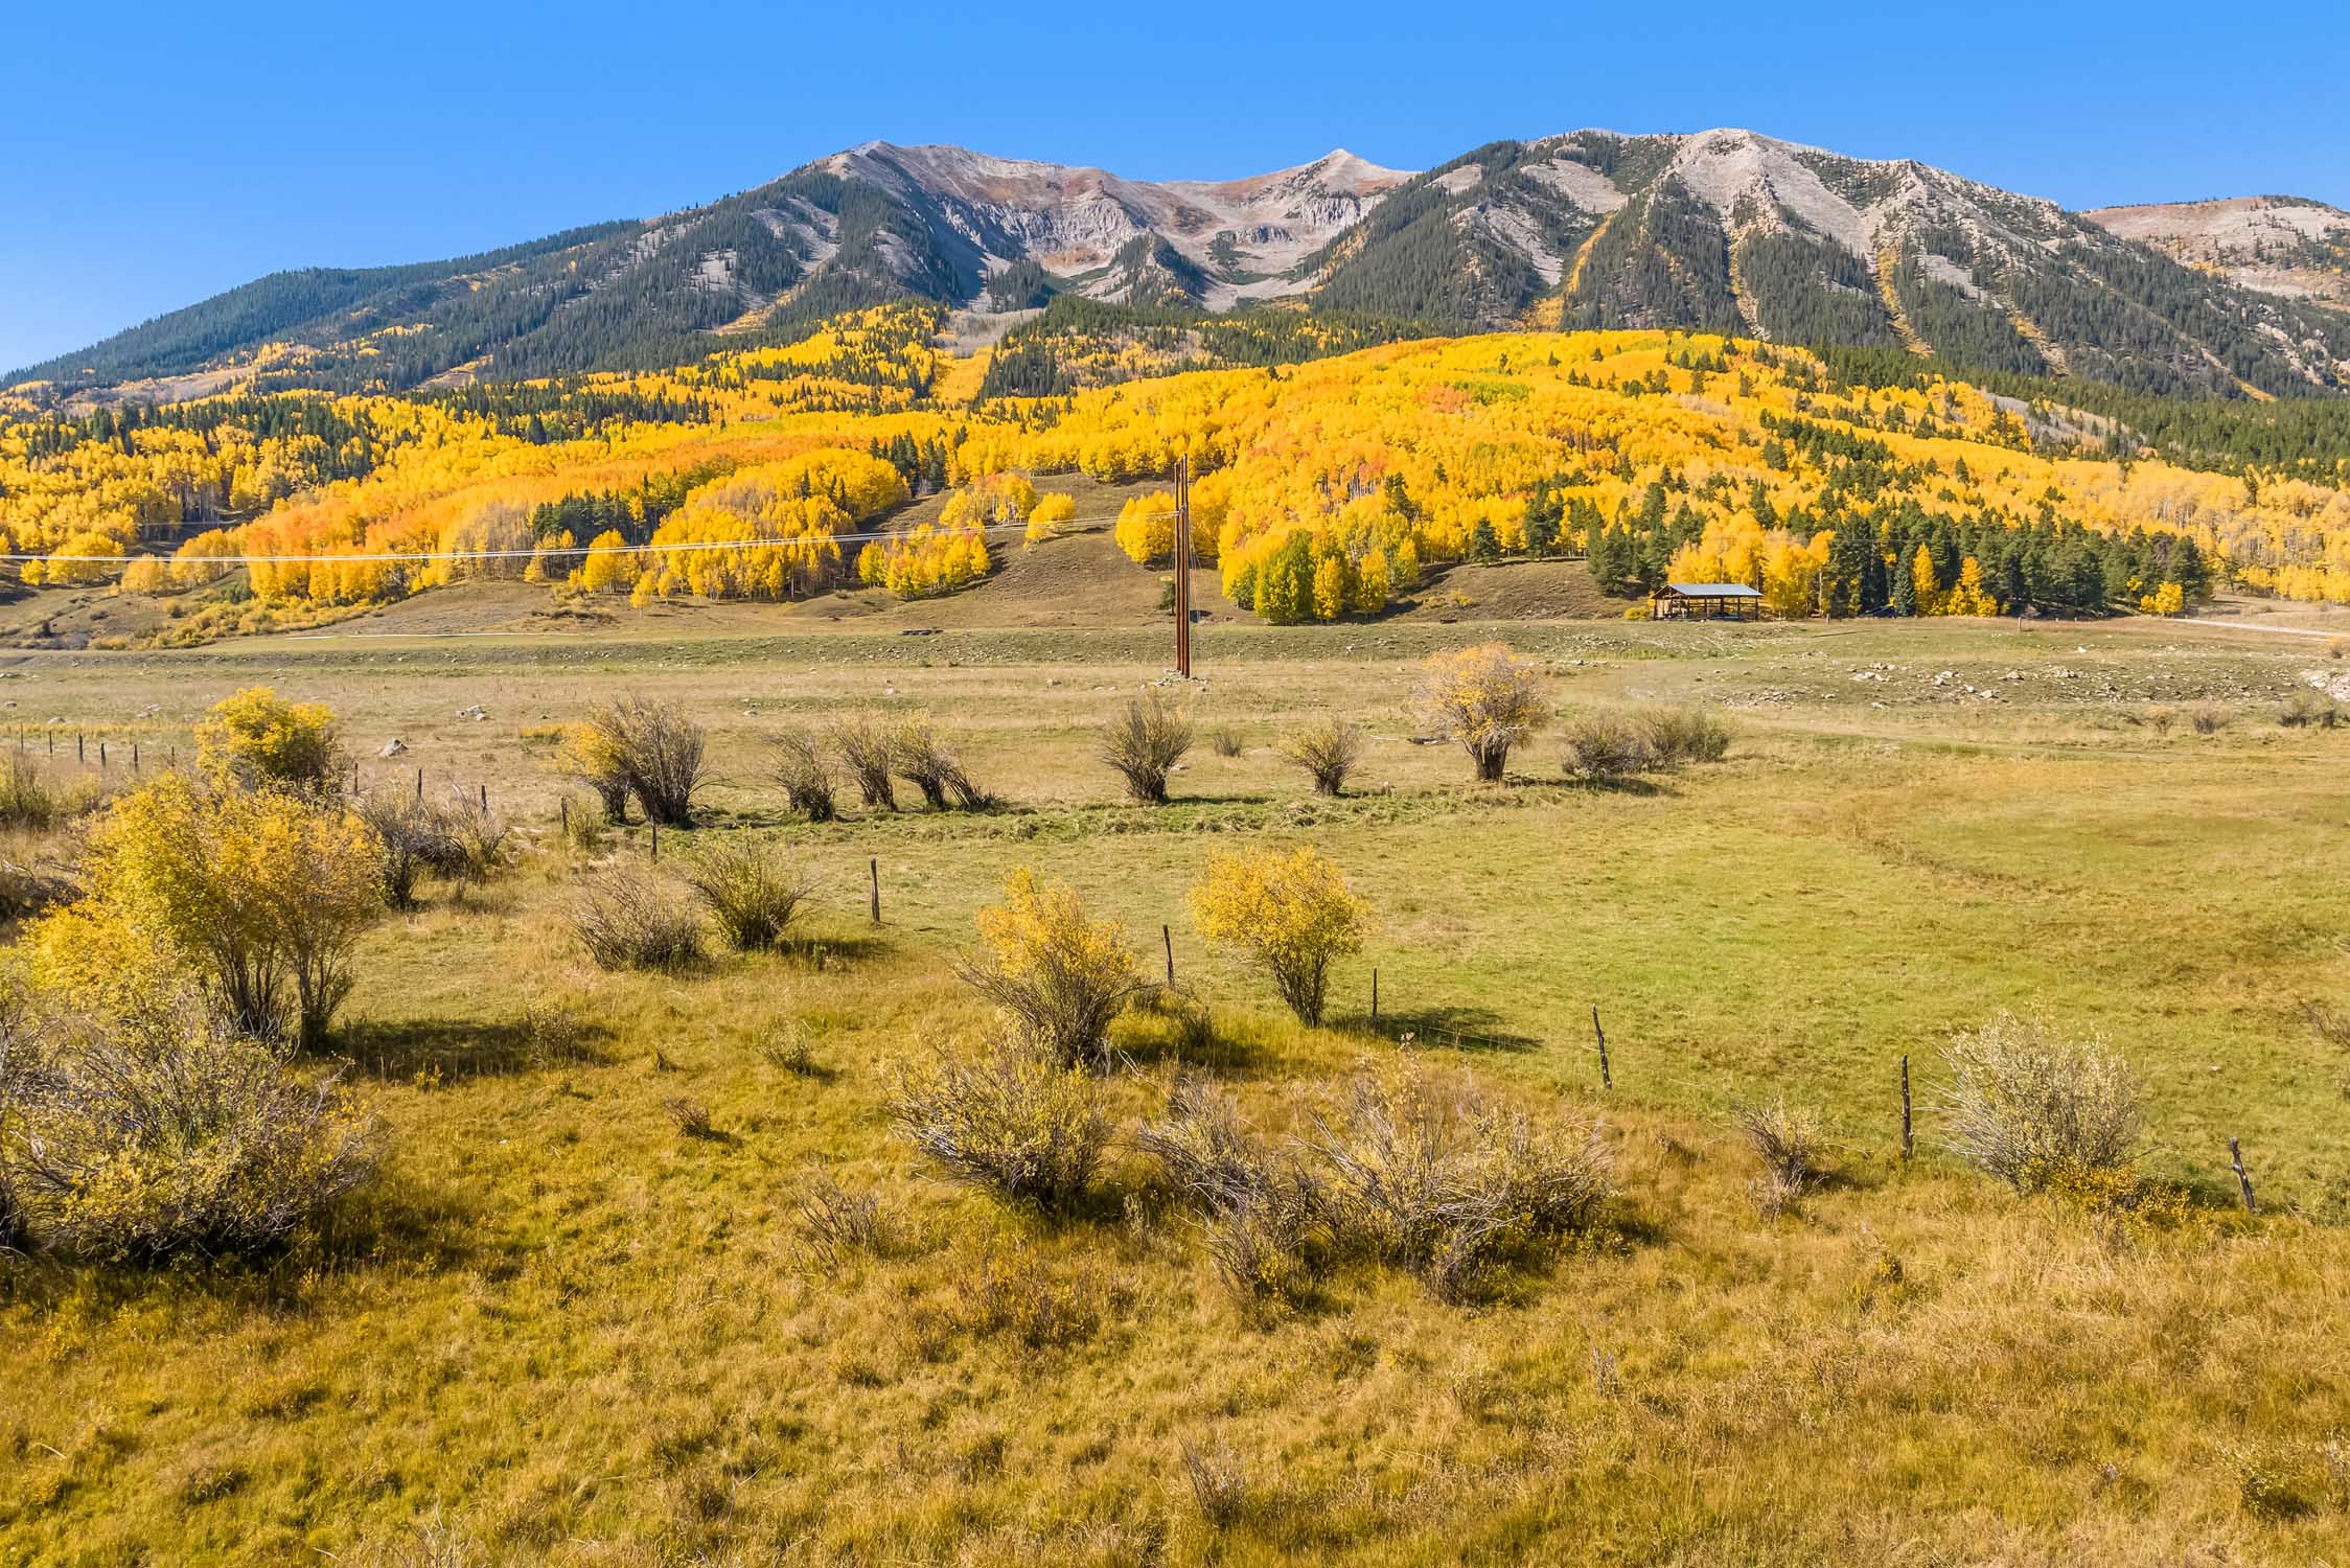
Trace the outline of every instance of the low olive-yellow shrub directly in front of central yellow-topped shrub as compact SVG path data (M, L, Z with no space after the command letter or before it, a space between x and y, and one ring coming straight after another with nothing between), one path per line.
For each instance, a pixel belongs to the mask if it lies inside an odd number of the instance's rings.
M956 1180L1046 1211L1072 1204L1109 1147L1093 1077L1018 1044L935 1053L900 1074L891 1110L898 1133Z

